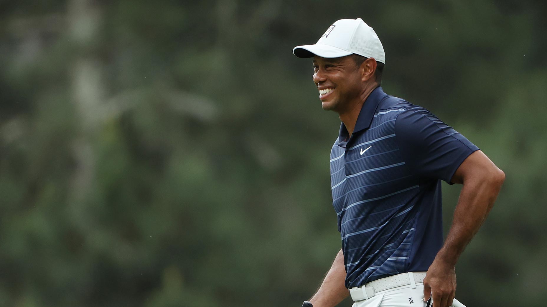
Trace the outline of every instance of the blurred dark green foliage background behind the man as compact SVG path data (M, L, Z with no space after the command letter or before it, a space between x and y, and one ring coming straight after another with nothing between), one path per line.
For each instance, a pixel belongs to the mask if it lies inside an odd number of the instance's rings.
M507 180L467 306L543 306L545 1L0 2L0 306L300 306L340 249L311 60L362 17L387 93ZM450 226L461 186L444 184ZM346 300L342 306L350 306Z

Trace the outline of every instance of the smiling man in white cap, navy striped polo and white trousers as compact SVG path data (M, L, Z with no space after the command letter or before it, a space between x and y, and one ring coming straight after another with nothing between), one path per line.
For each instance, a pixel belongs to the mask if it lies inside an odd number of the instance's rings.
M464 306L455 265L504 173L428 110L383 92L385 53L363 20L338 20L293 53L313 57L322 108L342 121L330 155L342 249L303 306L335 306L348 294L354 307ZM444 244L440 180L463 184Z

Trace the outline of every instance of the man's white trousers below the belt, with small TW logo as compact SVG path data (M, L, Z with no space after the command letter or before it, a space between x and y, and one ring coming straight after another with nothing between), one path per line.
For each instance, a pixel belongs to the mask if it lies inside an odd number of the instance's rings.
M353 307L424 307L423 283L416 282L416 288L410 285L391 288L377 292L374 297L366 300L359 300L353 303ZM453 307L465 307L457 299L452 302Z

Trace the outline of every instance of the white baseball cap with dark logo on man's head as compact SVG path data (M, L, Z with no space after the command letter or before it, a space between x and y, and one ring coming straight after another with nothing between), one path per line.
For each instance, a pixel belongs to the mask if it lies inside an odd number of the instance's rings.
M386 54L376 32L360 18L337 20L315 45L296 46L293 54L297 57L317 55L328 58L357 54L386 63Z

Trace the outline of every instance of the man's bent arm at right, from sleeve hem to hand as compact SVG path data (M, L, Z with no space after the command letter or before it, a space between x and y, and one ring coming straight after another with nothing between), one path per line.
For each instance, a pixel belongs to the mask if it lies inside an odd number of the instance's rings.
M452 177L463 184L446 241L423 280L425 300L433 297L433 307L452 306L456 293L455 265L492 209L505 174L480 150L469 155Z

